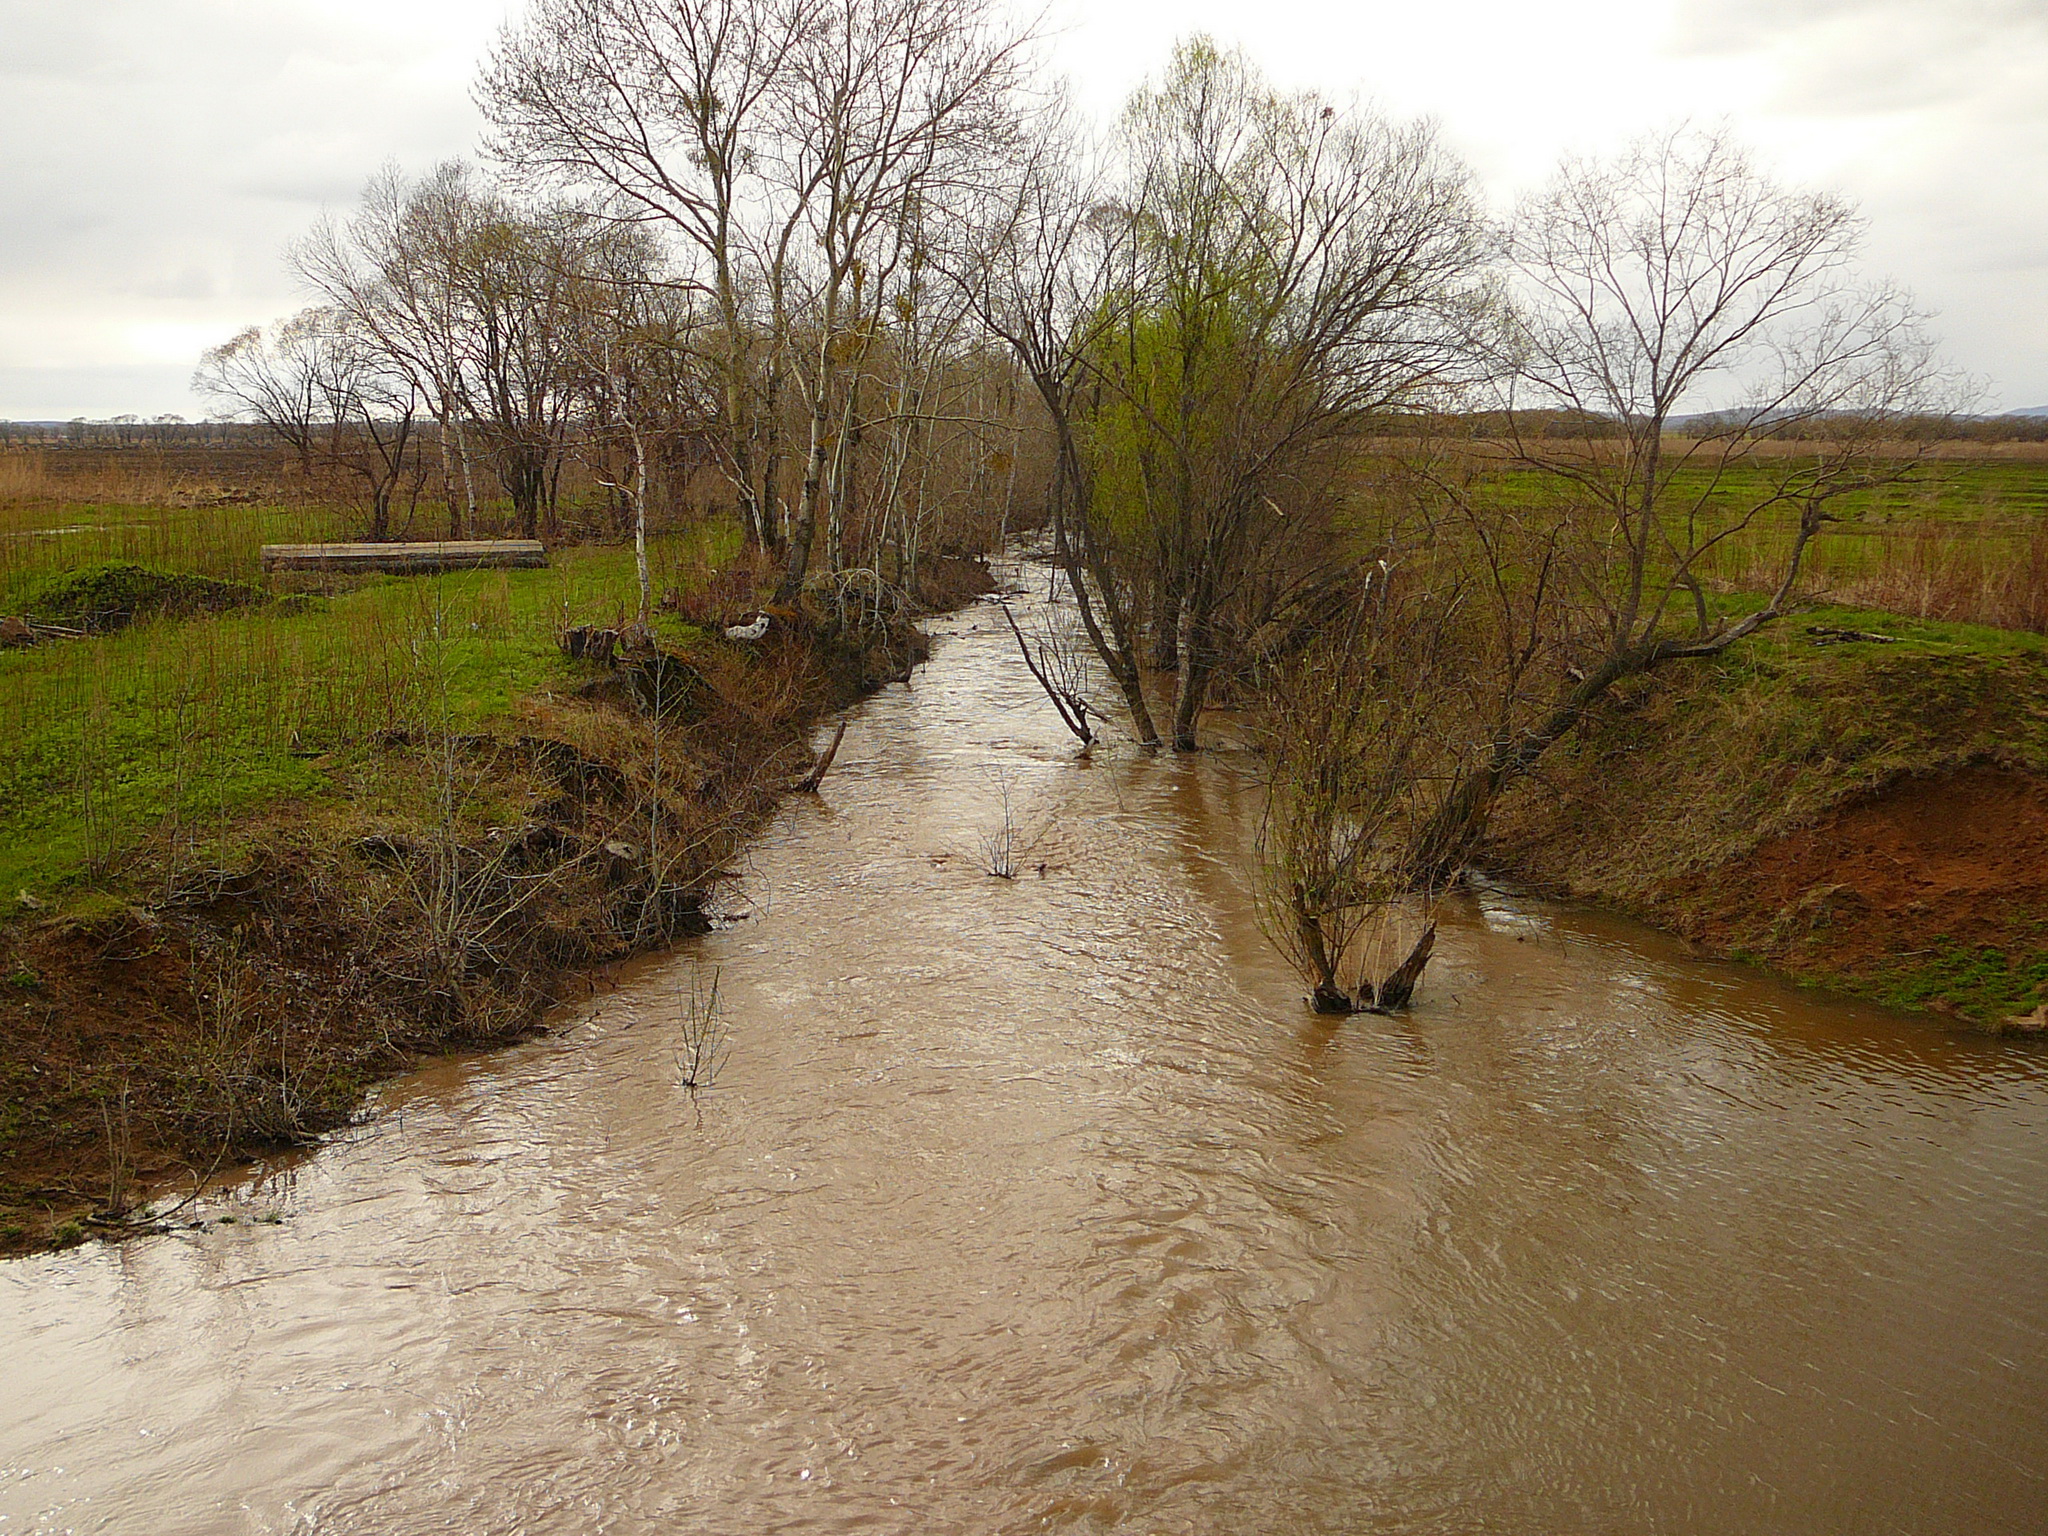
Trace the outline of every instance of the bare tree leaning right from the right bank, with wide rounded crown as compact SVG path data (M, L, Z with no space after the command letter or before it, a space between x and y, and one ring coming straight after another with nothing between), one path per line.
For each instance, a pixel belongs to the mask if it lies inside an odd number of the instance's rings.
M1618 682L1778 618L1835 500L1913 469L1898 424L1956 410L1911 301L1855 281L1858 238L1839 199L1788 190L1694 131L1567 162L1518 213L1509 305L1481 338L1499 379L1489 446L1546 496L1452 487L1499 598L1503 664L1485 739L1415 850L1432 879ZM1800 426L1825 428L1810 453L1755 453ZM1720 602L1716 551L1763 532L1772 590Z

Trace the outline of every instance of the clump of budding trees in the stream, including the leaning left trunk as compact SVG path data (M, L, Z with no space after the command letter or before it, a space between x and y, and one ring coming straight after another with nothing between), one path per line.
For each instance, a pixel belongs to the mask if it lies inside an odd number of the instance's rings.
M1192 750L1274 573L1319 555L1341 444L1468 356L1483 229L1432 129L1280 92L1204 39L1087 162L1049 121L956 264L1051 416L1081 625L1141 741L1141 651L1176 672Z

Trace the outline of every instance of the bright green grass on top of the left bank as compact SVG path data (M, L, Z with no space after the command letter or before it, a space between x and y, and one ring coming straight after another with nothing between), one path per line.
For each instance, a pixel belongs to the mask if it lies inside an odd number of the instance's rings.
M72 526L80 508L39 508ZM121 508L145 526L147 508ZM14 559L14 592L109 555L225 580L256 575L281 516L227 508L199 524L166 510L156 532L109 551L53 539ZM240 526L227 526L236 518ZM199 537L195 537L195 526ZM651 541L659 588L737 553L711 522ZM616 623L637 604L633 551L571 547L539 571L369 578L354 590L215 616L158 618L115 635L0 653L0 911L59 899L117 870L154 827L225 829L291 797L317 799L334 768L385 729L473 731L518 700L586 678L555 649L563 623ZM0 602L0 612L6 604ZM672 641L682 621L662 616Z

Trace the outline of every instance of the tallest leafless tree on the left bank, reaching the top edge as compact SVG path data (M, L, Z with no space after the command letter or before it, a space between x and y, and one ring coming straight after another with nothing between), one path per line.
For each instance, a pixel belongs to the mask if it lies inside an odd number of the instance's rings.
M494 152L670 231L670 281L707 295L723 461L750 537L788 535L784 598L819 532L827 565L846 559L885 295L922 266L932 203L1014 133L1022 78L993 0L535 0L496 51ZM793 496L784 395L805 434Z

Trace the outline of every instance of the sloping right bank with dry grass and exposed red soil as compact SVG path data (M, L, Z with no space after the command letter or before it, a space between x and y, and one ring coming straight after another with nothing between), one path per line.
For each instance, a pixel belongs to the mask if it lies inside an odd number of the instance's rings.
M1647 682L1503 807L1495 868L2015 1028L2048 1001L2048 657L1896 629Z

